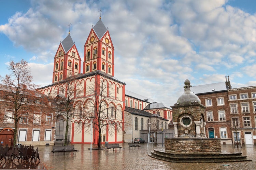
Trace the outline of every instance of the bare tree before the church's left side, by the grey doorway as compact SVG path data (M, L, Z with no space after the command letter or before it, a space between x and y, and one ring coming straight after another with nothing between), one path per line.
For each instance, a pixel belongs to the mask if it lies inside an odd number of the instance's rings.
M55 95L58 115L62 115L63 121L66 122L66 131L64 137L65 146L68 144L69 122L71 122L71 119L74 118L74 102L79 94L83 94L83 87L80 84L75 83L74 80L75 79L73 77L68 77L64 81L59 82L57 84L58 91L56 91L57 94Z

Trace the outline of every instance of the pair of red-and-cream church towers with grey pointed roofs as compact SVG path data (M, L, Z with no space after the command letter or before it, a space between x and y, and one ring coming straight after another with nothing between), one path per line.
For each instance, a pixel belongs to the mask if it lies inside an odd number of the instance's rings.
M91 28L84 45L83 74L94 71L114 77L114 46L101 19ZM54 57L53 83L77 74L81 74L81 57L69 33Z

